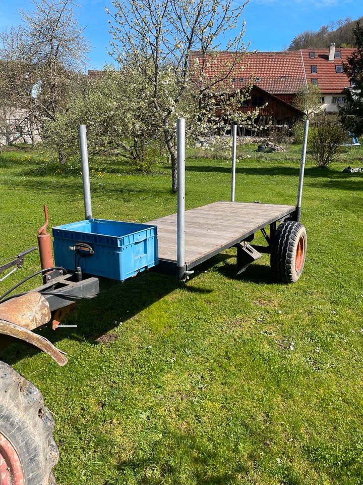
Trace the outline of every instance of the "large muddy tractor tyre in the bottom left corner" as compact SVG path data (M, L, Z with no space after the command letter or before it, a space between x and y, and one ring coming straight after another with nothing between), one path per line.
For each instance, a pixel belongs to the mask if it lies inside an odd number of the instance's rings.
M55 485L54 420L31 382L0 361L0 483Z

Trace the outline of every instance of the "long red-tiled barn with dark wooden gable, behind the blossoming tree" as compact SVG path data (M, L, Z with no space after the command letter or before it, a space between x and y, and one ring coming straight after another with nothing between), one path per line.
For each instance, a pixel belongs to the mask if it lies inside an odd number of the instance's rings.
M292 106L296 91L306 85L306 76L299 52L263 52L238 56L231 52L213 53L203 59L194 51L190 58L191 82L203 79L211 84L221 79L216 87L233 92L251 85L250 99L241 106L241 112L252 112L258 106L260 119L269 119L276 126L291 126L304 117ZM217 110L217 115L222 114ZM228 120L226 120L228 124Z

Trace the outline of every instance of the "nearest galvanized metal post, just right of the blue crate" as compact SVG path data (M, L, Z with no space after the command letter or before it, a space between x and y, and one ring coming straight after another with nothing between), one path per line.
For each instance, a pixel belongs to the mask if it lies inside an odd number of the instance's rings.
M185 119L176 121L177 161L177 245L176 265L178 277L185 274Z

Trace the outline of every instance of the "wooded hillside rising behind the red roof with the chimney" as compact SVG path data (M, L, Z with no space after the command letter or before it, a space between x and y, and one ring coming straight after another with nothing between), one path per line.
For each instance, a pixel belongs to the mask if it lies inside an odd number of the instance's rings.
M323 25L317 31L306 30L305 32L301 32L301 34L296 35L292 39L288 50L319 49L319 47L329 47L332 42L335 42L337 47L354 47L355 37L353 28L356 26L358 20L363 20L363 17L356 20L347 17Z

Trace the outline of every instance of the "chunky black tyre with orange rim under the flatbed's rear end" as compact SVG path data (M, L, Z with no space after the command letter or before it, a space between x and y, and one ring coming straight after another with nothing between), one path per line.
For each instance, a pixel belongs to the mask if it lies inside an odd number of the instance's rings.
M305 227L299 222L282 222L272 239L271 270L283 283L294 283L304 268L307 248Z

